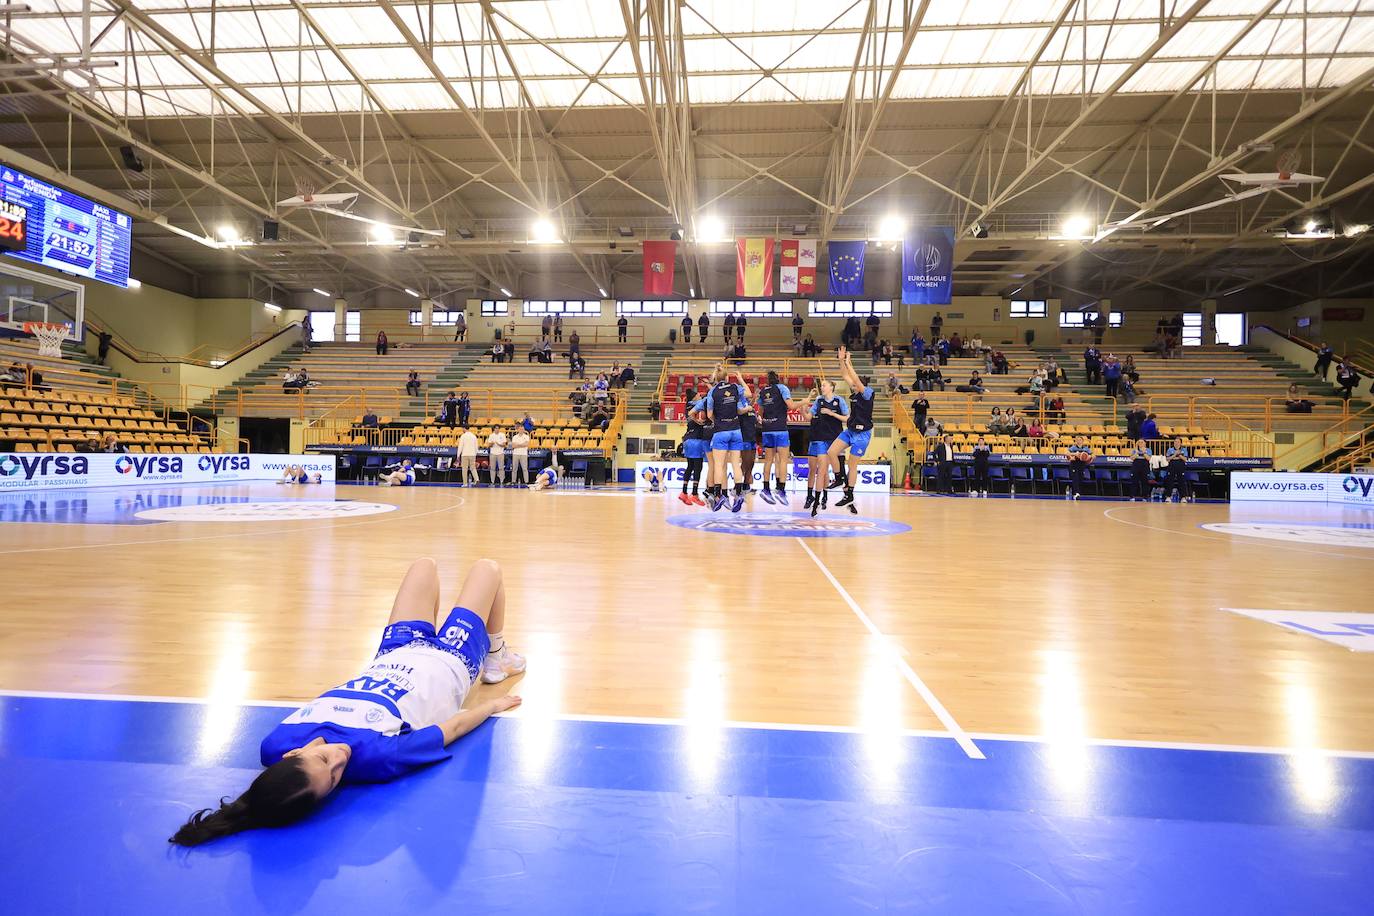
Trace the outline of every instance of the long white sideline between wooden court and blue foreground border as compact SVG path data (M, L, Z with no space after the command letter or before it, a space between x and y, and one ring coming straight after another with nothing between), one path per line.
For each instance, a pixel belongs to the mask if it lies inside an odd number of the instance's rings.
M110 700L125 703L181 703L187 706L221 705L223 700L201 696L143 696L136 694L63 694L51 691L7 691L0 689L0 696L21 696L33 699L73 699L73 700ZM234 702L235 706L261 706L273 709L295 709L309 700L258 700L243 699ZM611 725L671 725L679 728L699 726L688 718L650 717L650 715L588 715L583 713L534 713L521 709L515 713L497 713L499 718L528 718L532 721L555 722L606 722ZM859 725L807 725L794 722L745 722L727 720L720 722L721 728L749 728L772 732L824 732L833 735L871 735L871 728ZM941 740L955 740L955 736L944 729L926 728L897 728L890 732L899 737L938 737ZM1022 744L1054 744L1062 746L1061 737L1047 737L1044 735L1006 735L1002 732L969 732L969 737L980 742L1018 742ZM1193 742L1151 742L1132 740L1121 737L1083 737L1073 739L1073 744L1084 747L1138 747L1145 750L1164 751L1216 751L1221 754L1270 754L1275 757L1318 755L1318 757L1348 757L1355 759L1374 759L1374 751L1351 751L1325 747L1274 747L1265 744L1201 744Z

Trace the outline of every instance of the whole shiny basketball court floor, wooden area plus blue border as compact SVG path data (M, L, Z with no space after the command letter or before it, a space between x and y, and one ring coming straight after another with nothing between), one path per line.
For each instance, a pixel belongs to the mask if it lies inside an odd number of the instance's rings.
M0 801L43 825L0 868L55 912L1363 912L1374 656L1224 608L1374 611L1370 512L800 508L0 494ZM308 824L169 856L279 705L359 670L419 555L455 588L506 567L525 705Z

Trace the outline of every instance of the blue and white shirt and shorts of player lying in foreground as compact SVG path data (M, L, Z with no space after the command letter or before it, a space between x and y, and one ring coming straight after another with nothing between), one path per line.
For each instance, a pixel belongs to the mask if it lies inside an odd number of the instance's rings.
M447 759L440 724L463 707L489 648L482 618L464 607L449 611L442 634L430 621L392 623L365 672L295 710L262 739L262 765L316 737L352 748L345 783L383 783Z

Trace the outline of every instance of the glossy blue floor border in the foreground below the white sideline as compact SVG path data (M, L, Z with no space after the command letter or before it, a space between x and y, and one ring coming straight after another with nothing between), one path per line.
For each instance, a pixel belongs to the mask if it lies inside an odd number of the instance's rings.
M179 851L273 706L0 696L10 912L1364 913L1374 757L540 718Z

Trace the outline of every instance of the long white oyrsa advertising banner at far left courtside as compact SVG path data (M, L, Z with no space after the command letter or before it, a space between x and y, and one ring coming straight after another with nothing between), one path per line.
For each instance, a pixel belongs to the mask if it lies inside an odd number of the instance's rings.
M74 455L0 453L0 490L147 486L275 481L298 464L322 483L334 482L333 455Z

